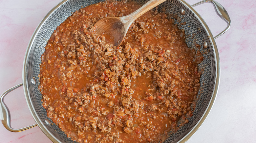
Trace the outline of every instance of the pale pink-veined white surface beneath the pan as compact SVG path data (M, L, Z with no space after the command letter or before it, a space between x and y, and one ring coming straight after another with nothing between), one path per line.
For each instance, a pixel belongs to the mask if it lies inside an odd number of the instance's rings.
M211 112L187 143L240 143L256 140L256 1L217 0L229 13L231 28L216 39L221 61L219 92ZM60 0L0 0L0 94L22 83L22 67L33 31ZM187 0L189 4L199 0ZM213 35L226 24L211 4L195 7ZM8 94L11 125L21 128L34 124L23 88ZM12 133L0 124L0 142L47 143L50 139L34 127Z

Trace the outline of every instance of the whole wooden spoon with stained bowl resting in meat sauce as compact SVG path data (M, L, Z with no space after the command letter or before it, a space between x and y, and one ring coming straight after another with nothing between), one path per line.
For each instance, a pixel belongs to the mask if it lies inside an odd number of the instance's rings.
M158 6L166 0L150 0L138 10L133 13L122 17L106 17L98 22L96 32L99 35L104 35L109 43L113 46L120 46L131 24L139 18L142 14L150 9Z

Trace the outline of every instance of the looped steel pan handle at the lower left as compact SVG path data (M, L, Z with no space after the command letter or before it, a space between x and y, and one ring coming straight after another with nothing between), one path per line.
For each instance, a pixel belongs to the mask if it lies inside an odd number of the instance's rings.
M6 104L4 103L4 97L10 93L12 90L18 88L22 86L22 83L19 84L19 85L16 85L14 87L11 87L10 89L6 90L2 95L1 95L1 101L0 101L0 104L1 104L1 112L0 112L0 119L4 125L4 127L11 131L11 132L21 132L21 131L25 131L25 130L28 130L30 128L33 128L35 126L37 126L37 124L33 124L33 125L30 125L28 127L24 127L24 128L20 128L20 129L13 129L11 127L11 114L10 114L10 111L8 109L8 107L6 106Z

